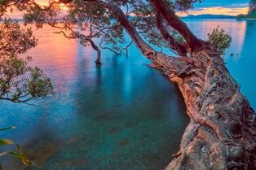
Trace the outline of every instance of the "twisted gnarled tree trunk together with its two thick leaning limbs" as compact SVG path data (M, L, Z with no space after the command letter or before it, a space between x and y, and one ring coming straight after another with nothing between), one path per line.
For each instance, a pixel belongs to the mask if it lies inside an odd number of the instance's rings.
M180 33L187 37L191 57L174 58L153 50L121 9L107 2L99 3L113 11L139 50L170 81L176 82L183 94L191 121L179 153L166 170L256 169L256 116L220 54L197 39L181 21L172 20L174 14L165 12L168 9L158 0L152 0L158 12L174 28L182 28Z

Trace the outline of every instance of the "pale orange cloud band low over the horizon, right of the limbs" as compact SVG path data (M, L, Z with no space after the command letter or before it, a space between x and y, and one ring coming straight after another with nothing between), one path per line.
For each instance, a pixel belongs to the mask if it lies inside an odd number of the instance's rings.
M247 14L247 7L239 7L239 8L227 8L227 7L205 7L198 10L188 11L186 13L178 13L179 16L186 15L202 15L202 14L212 14L212 15L239 15L239 14Z

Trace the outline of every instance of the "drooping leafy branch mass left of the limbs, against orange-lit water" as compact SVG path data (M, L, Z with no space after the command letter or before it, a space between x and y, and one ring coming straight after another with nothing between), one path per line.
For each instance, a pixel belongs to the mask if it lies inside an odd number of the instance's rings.
M113 20L111 12L95 2L78 0L67 7L65 12L59 5L46 11L28 7L24 20L26 24L35 23L38 28L44 24L60 28L65 37L77 38L82 46L90 46L93 38L100 38L105 45L121 51L120 44L126 43L124 29L117 20Z

